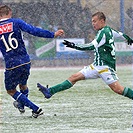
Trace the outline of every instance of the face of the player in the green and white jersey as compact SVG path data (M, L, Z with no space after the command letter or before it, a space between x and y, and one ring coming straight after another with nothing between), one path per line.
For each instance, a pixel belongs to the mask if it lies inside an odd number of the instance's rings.
M105 26L103 19L99 19L98 16L92 17L92 26L95 30L100 30Z

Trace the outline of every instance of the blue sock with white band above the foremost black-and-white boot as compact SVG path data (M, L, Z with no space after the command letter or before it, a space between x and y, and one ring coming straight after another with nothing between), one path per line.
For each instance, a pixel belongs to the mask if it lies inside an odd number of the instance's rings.
M24 106L32 109L34 112L36 112L39 107L36 106L34 103L32 103L24 94L16 91L16 93L12 96L16 101L20 102Z

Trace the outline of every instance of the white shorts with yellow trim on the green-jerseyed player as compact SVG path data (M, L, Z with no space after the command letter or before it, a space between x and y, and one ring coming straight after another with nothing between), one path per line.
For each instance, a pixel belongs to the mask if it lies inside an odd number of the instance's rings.
M94 66L91 64L89 66L85 66L80 72L85 76L85 79L102 78L107 85L118 80L115 71L108 66Z

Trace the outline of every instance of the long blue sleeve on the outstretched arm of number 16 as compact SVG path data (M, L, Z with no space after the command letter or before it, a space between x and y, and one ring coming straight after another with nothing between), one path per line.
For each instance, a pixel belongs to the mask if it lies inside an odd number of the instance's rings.
M54 32L50 32L48 30L43 30L41 28L32 26L30 24L27 24L23 20L18 20L19 22L19 27L22 31L27 32L33 36L38 36L38 37L44 37L44 38L54 38Z

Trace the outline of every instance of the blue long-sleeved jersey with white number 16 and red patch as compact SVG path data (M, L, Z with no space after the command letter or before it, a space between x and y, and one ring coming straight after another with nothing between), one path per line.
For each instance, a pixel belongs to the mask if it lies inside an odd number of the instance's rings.
M1 20L0 50L3 54L7 70L30 63L22 31L38 37L54 38L54 32L34 27L21 19L10 18Z

